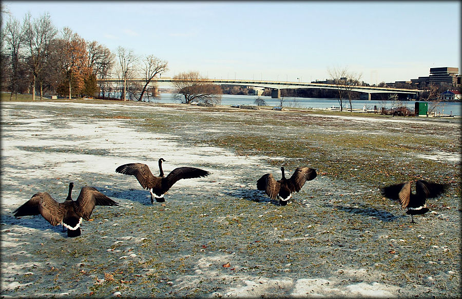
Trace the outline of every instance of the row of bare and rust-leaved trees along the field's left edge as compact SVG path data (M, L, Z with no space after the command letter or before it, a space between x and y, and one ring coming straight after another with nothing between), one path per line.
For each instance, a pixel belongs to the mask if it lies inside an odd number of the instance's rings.
M2 14L6 14L2 8ZM3 18L2 18L3 23ZM61 31L48 13L22 21L9 16L2 24L2 91L14 95L136 99L155 96L151 80L168 70L167 61L154 55L137 56L118 47L115 53L98 41L86 41L65 27ZM117 86L97 79L118 78ZM143 82L129 82L143 78Z

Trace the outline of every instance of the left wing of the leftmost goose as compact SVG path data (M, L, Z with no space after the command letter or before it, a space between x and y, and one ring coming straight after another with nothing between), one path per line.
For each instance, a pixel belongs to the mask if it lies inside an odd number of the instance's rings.
M34 194L30 200L14 211L14 217L42 215L51 225L63 221L64 205L56 202L48 193Z

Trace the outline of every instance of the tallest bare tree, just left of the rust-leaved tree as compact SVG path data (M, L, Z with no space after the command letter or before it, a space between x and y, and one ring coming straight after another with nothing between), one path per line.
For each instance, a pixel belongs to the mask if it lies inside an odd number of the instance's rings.
M49 54L51 40L56 36L57 30L51 23L51 17L48 13L43 14L38 19L32 19L29 12L24 19L24 32L33 74L32 100L35 100L35 84L43 69L44 59Z

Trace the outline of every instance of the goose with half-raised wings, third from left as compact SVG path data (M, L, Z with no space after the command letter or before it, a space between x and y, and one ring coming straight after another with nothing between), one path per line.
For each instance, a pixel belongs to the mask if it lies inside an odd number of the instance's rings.
M285 178L284 167L281 167L282 179L276 181L272 174L265 174L257 181L257 189L265 191L271 199L279 199L279 204L284 206L292 197L292 194L300 191L306 181L316 178L316 169L309 167L297 167L290 179Z

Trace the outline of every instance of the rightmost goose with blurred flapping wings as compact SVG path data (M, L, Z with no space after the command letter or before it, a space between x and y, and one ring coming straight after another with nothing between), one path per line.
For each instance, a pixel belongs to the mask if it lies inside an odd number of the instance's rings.
M380 189L383 196L398 200L402 208L408 208L406 213L411 215L411 223L414 222L413 215L424 215L429 211L427 198L437 197L446 190L446 185L418 180L415 182L415 191L411 192L411 181L390 185Z

